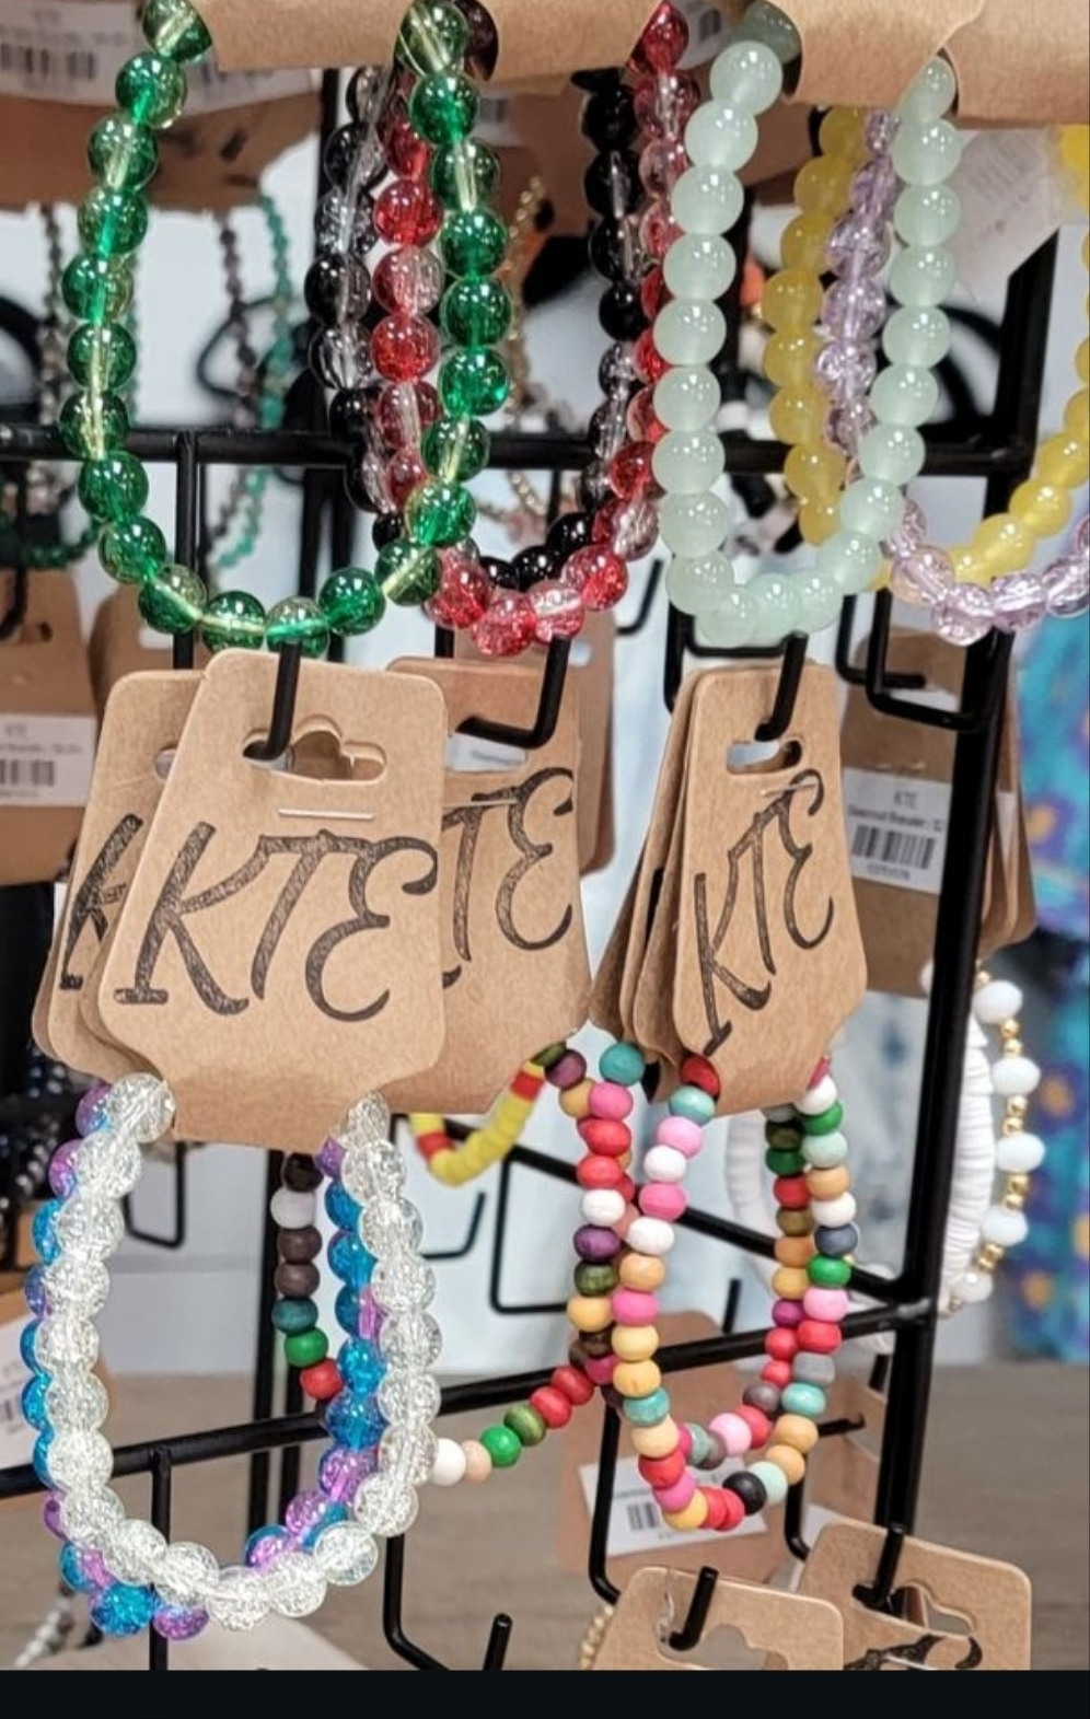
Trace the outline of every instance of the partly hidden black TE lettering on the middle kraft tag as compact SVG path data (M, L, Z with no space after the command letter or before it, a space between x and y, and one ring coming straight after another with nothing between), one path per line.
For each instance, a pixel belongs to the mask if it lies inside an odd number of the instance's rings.
M488 904L495 911L495 918L504 939L523 952L533 952L540 949L552 949L559 944L571 928L573 923L573 906L566 904L560 918L550 932L543 937L528 937L519 930L516 923L516 897L521 884L530 877L535 866L543 865L554 853L554 842L535 842L526 829L526 818L531 810L542 803L548 803L545 791L550 784L560 784L564 792L559 804L552 806L554 818L571 818L574 813L573 799L573 772L560 767L550 767L545 770L536 770L533 775L526 777L524 782L516 782L511 787L499 787L493 791L485 791L481 794L473 794L471 801L464 806L452 806L444 815L444 832L457 830L457 856L454 861L454 901L452 901L452 939L454 952L459 957L459 964L444 973L444 988L450 990L452 985L462 975L466 963L473 959L469 927L471 927L471 904L475 897L475 875L476 861L480 853L480 837L485 818L490 811L505 811L507 815L507 835L511 846L516 849L519 858L507 866L504 877L500 878L495 896L492 896L492 880L485 878L485 887L488 890ZM483 896L483 890L481 890Z

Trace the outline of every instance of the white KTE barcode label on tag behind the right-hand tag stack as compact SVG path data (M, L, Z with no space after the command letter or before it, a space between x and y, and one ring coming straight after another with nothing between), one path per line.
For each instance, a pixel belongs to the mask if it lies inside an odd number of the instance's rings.
M937 896L951 791L882 770L844 770L851 875Z

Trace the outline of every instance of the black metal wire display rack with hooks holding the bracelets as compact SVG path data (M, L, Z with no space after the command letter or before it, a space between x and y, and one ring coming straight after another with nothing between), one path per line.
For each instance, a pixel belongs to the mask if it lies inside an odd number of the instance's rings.
M339 79L327 74L323 88L325 131L335 124L339 112ZM320 187L321 189L321 187ZM958 430L958 438L937 431L928 438L927 473L949 478L987 480L987 507L1006 505L1009 492L1030 471L1037 438L1042 375L1050 318L1056 242L1052 241L1026 261L1011 278L1006 311L1001 327L999 373L994 409L970 433ZM194 564L201 541L203 480L215 466L277 466L303 473L303 514L299 547L299 590L313 593L320 566L327 552L334 564L351 559L352 509L344 499L340 473L346 464L346 447L332 440L320 426L321 401L313 399L308 421L315 428L284 431L230 431L222 428L151 428L136 430L131 447L144 461L174 466L177 478L175 559ZM726 442L731 474L765 474L782 469L786 450L774 442ZM62 459L57 435L50 430L26 425L0 425L0 464L19 466L31 459ZM499 433L492 442L493 469L528 469L566 473L579 469L590 457L590 447L578 437L542 433ZM19 581L17 581L19 583ZM646 617L653 593L643 605L640 619ZM665 600L665 598L660 598ZM19 591L15 593L15 605ZM837 669L861 684L873 708L904 722L937 725L954 736L954 770L949 815L949 839L942 889L937 908L934 983L928 1004L927 1042L923 1054L920 1107L911 1176L911 1193L904 1234L904 1255L892 1279L865 1272L854 1277L858 1288L873 1305L851 1313L844 1322L844 1337L870 1332L892 1334L892 1355L880 1363L882 1384L887 1389L885 1432L875 1501L875 1521L887 1530L885 1547L873 1571L868 1600L873 1606L896 1604L897 1557L906 1533L913 1532L923 1447L928 1418L932 1361L937 1331L937 1296L942 1265L946 1212L949 1205L961 1093L963 1045L970 1021L977 961L977 927L980 925L985 856L992 818L999 736L1007 696L1011 664L1011 638L990 634L964 655L964 684L956 710L935 710L913 700L920 682L897 674L891 664L891 598L875 598L870 626L870 643L865 667L853 667L853 610L848 603L839 627ZM626 627L621 627L624 636ZM672 703L686 653L695 657L729 655L700 646L691 634L691 624L671 612L664 664L664 691ZM437 650L447 652L452 639L437 638ZM621 643L621 650L624 645ZM743 653L744 655L744 653ZM751 653L755 655L755 653ZM806 655L806 639L791 638L781 650L781 684L775 708L770 712L765 734L782 734L791 720L794 691ZM181 639L175 662L191 660L191 641ZM564 686L566 648L554 646L548 653L538 720L531 731L517 737L526 746L542 744L555 724ZM277 708L270 724L270 753L284 749L291 736L294 677L297 658L285 653L279 682ZM478 732L512 737L511 731L475 724ZM492 1226L490 1300L497 1312L555 1312L552 1306L512 1308L504 1303L500 1274L504 1236L507 1227L509 1191L514 1174L547 1176L574 1181L571 1164L554 1160L547 1153L516 1148L502 1167ZM179 1169L184 1178L184 1167ZM268 1188L279 1186L279 1155L268 1160ZM184 1234L184 1186L179 1183L177 1226L167 1245L179 1245ZM703 1236L729 1243L750 1253L770 1255L772 1239L707 1212L689 1210L681 1226ZM450 1257L464 1255L485 1239L485 1202L476 1196L469 1207L469 1233ZM433 1257L435 1258L435 1257ZM442 1258L442 1255L440 1255ZM266 1224L260 1279L258 1356L253 1380L253 1418L244 1425L218 1427L208 1432L179 1434L156 1439L153 1444L134 1444L117 1453L115 1475L150 1475L151 1520L170 1533L172 1478L179 1468L218 1461L230 1456L249 1456L249 1520L251 1526L268 1520L273 1492L273 1456L280 1454L277 1492L287 1499L294 1490L301 1447L323 1437L313 1413L301 1411L297 1377L289 1375L282 1413L275 1410L273 1327L268 1313L273 1301L275 1238ZM727 1308L726 1329L720 1336L695 1343L667 1346L658 1355L664 1372L717 1367L738 1361L762 1351L763 1331L734 1331L732 1312L736 1296ZM524 1398L545 1384L548 1370L481 1379L450 1386L442 1396L442 1415L461 1410L485 1410ZM825 1437L848 1430L846 1422L822 1427ZM607 1528L614 1492L619 1446L619 1416L605 1410L598 1463L597 1502L588 1540L588 1576L595 1592L607 1600L615 1599L615 1588L607 1575ZM0 1471L0 1501L41 1490L33 1468ZM805 1557L801 1539L801 1489L793 1489L787 1501L786 1539L794 1556ZM695 1590L689 1618L674 1636L676 1645L695 1645L707 1616L715 1571L703 1571ZM387 1542L383 1566L383 1631L390 1649L421 1671L456 1669L444 1666L426 1647L413 1642L406 1631L406 1549L401 1539ZM497 1614L487 1635L481 1662L457 1669L504 1669L512 1619ZM469 1624L469 1628L473 1628ZM148 1667L168 1669L168 1643L150 1633Z

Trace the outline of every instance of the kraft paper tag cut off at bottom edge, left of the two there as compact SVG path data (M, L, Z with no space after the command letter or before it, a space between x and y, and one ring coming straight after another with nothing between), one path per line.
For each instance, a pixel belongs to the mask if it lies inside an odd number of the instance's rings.
M679 1569L636 1571L617 1600L591 1671L841 1669L844 1631L836 1606L750 1581L715 1585L700 1645L679 1654L669 1638L681 1630L695 1590L696 1578ZM738 1647L729 1638L722 1642L720 1657L717 1635L724 1631L741 1642ZM763 1662L753 1666L753 1655Z

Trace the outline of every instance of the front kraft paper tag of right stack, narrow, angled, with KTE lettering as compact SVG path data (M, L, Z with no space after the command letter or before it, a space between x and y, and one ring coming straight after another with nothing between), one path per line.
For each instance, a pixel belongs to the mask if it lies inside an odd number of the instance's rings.
M715 1064L724 1114L803 1092L866 988L834 670L806 665L775 758L731 762L777 677L775 665L701 676L689 725L674 1026Z

